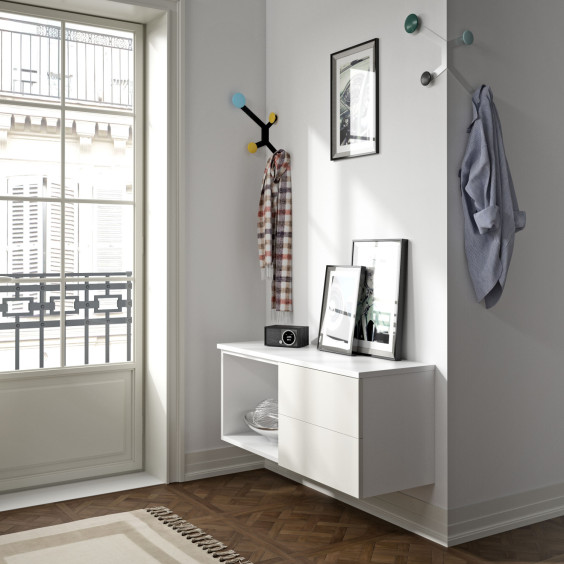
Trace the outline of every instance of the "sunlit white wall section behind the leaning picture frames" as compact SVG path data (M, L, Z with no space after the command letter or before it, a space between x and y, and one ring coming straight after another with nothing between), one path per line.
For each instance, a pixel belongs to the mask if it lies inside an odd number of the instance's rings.
M268 0L266 107L292 156L294 322L317 335L325 266L350 264L353 239L410 241L405 356L438 367L436 485L411 494L446 507L446 80L420 85L441 54L405 33L411 12L445 36L446 0ZM375 37L380 154L331 162L330 54Z

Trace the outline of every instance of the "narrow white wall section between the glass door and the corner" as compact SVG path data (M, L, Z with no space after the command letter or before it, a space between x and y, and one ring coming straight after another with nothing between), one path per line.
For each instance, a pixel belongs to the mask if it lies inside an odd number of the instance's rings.
M231 96L265 117L262 0L187 0L186 451L220 441L219 342L259 340L264 284L256 214L264 153L260 130ZM257 137L258 135L258 137Z

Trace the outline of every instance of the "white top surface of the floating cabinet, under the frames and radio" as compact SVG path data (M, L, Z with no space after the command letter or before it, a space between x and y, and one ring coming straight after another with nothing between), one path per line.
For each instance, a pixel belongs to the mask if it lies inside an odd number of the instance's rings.
M410 360L386 360L371 356L347 356L317 350L315 345L298 349L267 347L261 341L246 343L221 343L217 348L223 352L273 363L292 364L313 370L333 372L351 378L370 378L400 372L427 372L435 369L433 364Z

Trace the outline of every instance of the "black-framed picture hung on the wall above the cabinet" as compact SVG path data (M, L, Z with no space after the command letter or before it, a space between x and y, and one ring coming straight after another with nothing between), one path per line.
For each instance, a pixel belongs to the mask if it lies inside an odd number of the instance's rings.
M331 55L331 160L378 153L378 39Z

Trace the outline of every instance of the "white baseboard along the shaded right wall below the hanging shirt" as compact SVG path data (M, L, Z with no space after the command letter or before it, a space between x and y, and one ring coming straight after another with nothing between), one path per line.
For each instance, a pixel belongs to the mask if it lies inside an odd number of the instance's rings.
M455 546L564 515L564 484L449 511L448 545Z

